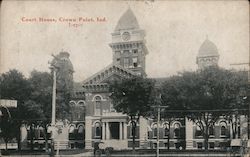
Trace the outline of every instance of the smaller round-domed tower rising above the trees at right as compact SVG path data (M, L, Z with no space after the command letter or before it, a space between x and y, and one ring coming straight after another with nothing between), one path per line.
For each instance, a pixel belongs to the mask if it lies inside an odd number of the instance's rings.
M209 66L218 66L219 53L216 45L208 40L202 43L196 58L198 69L204 69Z

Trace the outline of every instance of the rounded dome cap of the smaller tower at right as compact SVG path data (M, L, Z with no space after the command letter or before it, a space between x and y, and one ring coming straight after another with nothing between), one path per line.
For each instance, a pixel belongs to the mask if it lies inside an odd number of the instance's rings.
M219 56L218 49L213 42L206 39L202 43L197 57L211 57L211 56Z

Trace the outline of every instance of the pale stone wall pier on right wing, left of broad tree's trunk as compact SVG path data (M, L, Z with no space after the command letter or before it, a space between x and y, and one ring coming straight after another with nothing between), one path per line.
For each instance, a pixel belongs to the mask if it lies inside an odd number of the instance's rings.
M185 118L186 149L193 149L193 122Z

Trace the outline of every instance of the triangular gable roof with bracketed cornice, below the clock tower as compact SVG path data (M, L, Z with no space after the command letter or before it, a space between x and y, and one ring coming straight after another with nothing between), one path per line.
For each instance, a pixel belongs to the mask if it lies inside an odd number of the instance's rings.
M136 74L131 70L125 69L117 64L110 64L107 67L103 68L101 71L83 81L83 86L90 84L106 84L107 79L114 75L120 76L122 78L130 78L136 76Z

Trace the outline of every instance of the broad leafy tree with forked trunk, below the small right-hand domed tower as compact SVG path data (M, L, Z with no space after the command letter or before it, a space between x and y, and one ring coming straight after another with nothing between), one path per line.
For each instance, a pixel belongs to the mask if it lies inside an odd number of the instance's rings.
M229 106L235 104L241 81L233 72L218 67L184 72L164 83L162 98L172 109L182 110L196 123L202 132L207 150L209 128L221 116L229 113L223 110L231 109Z

